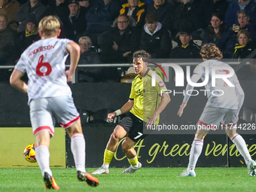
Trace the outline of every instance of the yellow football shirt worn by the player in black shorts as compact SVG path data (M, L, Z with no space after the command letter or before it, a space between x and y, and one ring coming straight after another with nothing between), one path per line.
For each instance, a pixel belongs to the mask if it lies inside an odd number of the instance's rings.
M133 79L130 93L130 99L134 101L130 112L145 122L148 122L149 118L158 108L161 101L161 90L162 93L164 90L167 90L159 75L156 75L155 87L151 86L151 81L151 69L148 69L143 78L139 78L139 75L137 75ZM156 124L159 123L159 118L160 115L157 117Z

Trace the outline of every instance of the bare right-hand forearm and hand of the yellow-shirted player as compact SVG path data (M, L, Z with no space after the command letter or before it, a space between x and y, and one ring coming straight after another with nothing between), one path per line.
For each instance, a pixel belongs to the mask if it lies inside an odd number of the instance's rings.
M146 126L155 124L157 120L157 115L160 114L163 111L163 109L166 108L166 105L168 105L170 101L171 101L171 98L169 97L169 94L164 93L161 96L161 101L160 101L160 104L158 105L158 108L156 109L156 111L154 111L154 114L152 114L152 116L149 118L148 122L146 123Z

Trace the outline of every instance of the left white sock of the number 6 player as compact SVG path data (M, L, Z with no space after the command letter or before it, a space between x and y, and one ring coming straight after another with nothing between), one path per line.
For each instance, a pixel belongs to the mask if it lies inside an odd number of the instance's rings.
M41 169L41 174L44 176L44 172L47 172L50 176L52 176L53 173L50 170L49 148L47 148L45 145L40 145L35 148L35 158L38 162L38 166Z

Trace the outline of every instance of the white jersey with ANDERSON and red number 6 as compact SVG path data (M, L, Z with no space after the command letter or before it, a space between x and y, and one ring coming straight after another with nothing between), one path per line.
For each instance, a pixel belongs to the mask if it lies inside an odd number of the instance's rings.
M29 101L36 98L72 96L67 84L66 45L69 39L45 38L30 45L15 69L27 73Z

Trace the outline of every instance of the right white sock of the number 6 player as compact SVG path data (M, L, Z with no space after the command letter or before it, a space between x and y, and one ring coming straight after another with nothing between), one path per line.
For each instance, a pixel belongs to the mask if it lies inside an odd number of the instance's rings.
M75 160L75 168L78 171L85 171L85 140L84 135L76 133L71 138L71 151Z

